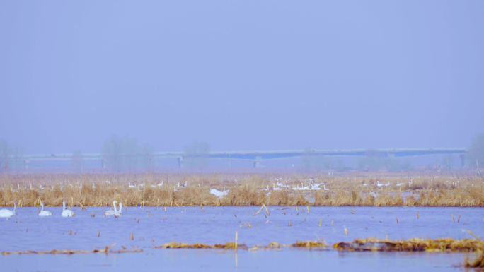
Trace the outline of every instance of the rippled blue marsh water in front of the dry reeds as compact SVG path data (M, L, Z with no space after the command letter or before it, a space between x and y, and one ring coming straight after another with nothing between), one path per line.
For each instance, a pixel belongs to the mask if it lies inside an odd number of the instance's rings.
M0 251L52 249L143 249L142 253L0 256L2 271L306 271L342 269L375 271L441 271L463 269L465 254L335 252L333 250L154 249L166 242L248 247L270 242L292 244L324 240L328 244L355 238L391 240L484 237L484 208L258 207L125 208L120 218L104 217L108 208L74 208L74 218L38 216L37 208L18 208L0 220ZM345 228L347 233L345 234Z

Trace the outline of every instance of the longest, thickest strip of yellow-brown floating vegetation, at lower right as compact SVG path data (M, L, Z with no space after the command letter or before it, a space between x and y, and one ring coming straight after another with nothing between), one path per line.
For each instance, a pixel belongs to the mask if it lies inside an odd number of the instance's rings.
M484 242L476 239L454 240L419 239L410 240L379 240L376 238L356 239L352 242L333 244L334 249L349 252L474 252L484 249Z

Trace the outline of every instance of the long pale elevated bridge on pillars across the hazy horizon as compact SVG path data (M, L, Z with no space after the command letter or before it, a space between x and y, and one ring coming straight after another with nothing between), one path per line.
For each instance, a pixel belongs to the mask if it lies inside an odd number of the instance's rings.
M185 158L218 158L229 160L250 160L253 161L254 167L259 167L262 160L275 160L282 158L296 158L305 156L342 156L342 157L416 157L428 155L460 155L463 163L466 148L380 148L380 149L301 149L301 150L252 150L252 151L212 151L209 153L185 153L185 152L156 152L150 154L131 154L124 157L138 158L175 158L178 165L182 167ZM16 157L17 160L23 160L25 165L30 161L45 160L100 160L102 165L107 156L101 153L86 153L74 155L72 153L51 153L51 154L33 154Z

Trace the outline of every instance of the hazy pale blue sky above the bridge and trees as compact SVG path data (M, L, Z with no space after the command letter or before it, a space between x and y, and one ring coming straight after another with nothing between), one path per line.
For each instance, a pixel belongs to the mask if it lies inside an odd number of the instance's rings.
M25 153L468 146L484 1L0 1L0 138Z

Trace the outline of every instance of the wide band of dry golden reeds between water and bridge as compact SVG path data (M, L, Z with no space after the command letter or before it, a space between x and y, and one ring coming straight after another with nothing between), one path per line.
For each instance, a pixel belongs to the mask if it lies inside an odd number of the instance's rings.
M303 190L324 183L324 189ZM185 184L186 187L185 187ZM276 187L282 184L283 187ZM322 187L321 187L322 188ZM228 193L223 197L210 189ZM483 207L484 179L456 175L0 175L0 206Z

